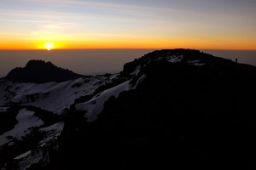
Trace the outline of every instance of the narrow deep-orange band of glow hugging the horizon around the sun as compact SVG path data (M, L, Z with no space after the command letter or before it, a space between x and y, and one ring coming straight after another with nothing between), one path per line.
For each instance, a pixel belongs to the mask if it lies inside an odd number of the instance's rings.
M35 50L35 49L100 49L100 48L142 48L142 49L163 49L163 48L194 48L194 49L226 49L226 50L256 50L255 43L224 43L224 42L196 42L194 40L173 38L149 40L126 40L126 41L41 41L41 42L0 42L1 50Z

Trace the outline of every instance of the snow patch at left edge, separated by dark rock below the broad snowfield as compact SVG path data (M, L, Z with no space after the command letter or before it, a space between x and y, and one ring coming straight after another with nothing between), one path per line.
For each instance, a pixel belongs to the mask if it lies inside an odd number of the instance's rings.
M26 134L31 132L31 127L39 127L44 124L41 119L34 116L33 111L27 111L26 109L20 110L16 116L16 119L18 123L15 125L15 127L0 136L0 146L9 143L12 138L21 139L22 137L26 136Z

